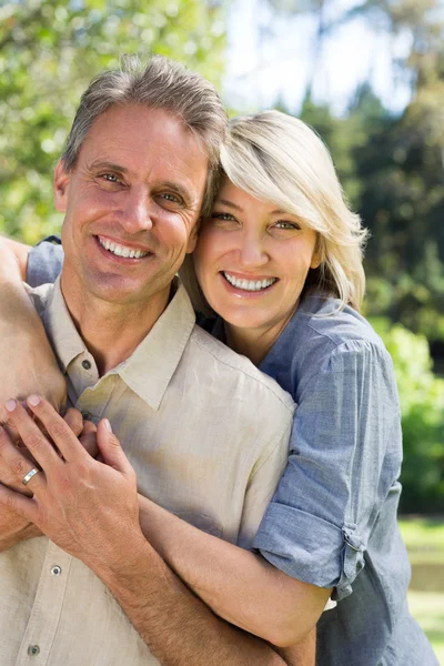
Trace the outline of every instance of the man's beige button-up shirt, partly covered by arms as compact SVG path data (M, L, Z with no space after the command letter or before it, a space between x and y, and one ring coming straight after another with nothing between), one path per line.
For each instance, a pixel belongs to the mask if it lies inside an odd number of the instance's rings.
M182 286L132 356L102 377L60 283L34 290L34 301L70 402L111 421L139 491L249 547L286 462L291 397L195 325ZM1 666L159 664L95 574L47 537L0 554L0 599Z

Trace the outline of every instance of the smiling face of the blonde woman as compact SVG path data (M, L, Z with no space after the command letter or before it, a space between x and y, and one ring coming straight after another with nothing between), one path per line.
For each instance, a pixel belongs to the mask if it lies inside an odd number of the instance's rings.
M225 180L202 225L194 264L212 309L242 329L280 332L297 307L316 233Z

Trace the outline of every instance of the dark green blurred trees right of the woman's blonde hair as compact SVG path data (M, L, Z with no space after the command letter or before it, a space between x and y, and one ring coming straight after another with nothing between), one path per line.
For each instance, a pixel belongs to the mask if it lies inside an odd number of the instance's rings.
M398 118L367 84L344 118L310 98L301 117L325 140L371 231L366 314L444 341L444 70L432 88Z

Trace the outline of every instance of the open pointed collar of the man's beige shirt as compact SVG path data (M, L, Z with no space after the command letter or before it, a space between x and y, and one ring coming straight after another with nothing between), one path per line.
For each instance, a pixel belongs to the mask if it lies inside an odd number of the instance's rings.
M79 355L88 353L71 319L60 287L54 283L43 322L64 372ZM119 374L124 383L153 410L158 410L195 323L190 297L179 284L169 305L133 354L107 375ZM105 375L105 376L107 376ZM103 377L102 377L103 379Z

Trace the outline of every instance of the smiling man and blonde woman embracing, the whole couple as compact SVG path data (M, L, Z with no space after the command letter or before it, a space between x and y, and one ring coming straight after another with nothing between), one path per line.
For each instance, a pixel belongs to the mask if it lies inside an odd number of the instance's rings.
M366 234L322 141L127 59L54 201L61 245L1 243L1 664L436 665Z

